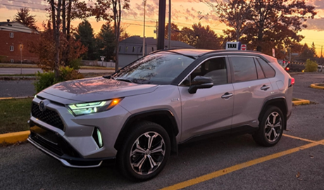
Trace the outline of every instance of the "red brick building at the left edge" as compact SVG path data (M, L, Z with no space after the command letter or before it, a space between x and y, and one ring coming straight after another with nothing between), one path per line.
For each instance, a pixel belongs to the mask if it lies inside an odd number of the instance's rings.
M32 63L38 56L30 53L27 43L37 40L39 33L18 22L0 22L0 63ZM21 51L20 51L21 46Z

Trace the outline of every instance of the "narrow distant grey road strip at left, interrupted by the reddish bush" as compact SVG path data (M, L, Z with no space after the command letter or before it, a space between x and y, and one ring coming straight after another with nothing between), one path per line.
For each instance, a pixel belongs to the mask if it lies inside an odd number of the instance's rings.
M21 72L20 72L21 70ZM0 68L0 75L15 75L15 74L35 74L37 71L42 72L40 68ZM81 73L101 73L107 72L108 70L96 70L96 69L80 69Z

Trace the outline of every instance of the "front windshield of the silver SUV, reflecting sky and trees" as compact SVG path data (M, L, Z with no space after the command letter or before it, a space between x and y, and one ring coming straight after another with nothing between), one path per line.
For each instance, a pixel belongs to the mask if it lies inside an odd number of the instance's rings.
M154 53L127 65L111 78L139 84L170 84L193 61L182 54Z

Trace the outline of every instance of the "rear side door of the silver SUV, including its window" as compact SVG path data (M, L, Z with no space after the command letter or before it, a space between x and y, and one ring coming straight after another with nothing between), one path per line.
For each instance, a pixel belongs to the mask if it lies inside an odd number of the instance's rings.
M234 87L232 129L258 127L258 115L273 87L254 57L229 56L229 60Z

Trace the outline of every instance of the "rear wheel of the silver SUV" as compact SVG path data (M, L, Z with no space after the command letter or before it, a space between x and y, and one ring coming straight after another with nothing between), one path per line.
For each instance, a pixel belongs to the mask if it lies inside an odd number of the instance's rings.
M254 141L261 146L275 146L285 128L286 120L282 111L276 106L269 106L261 116L258 130L252 135Z

